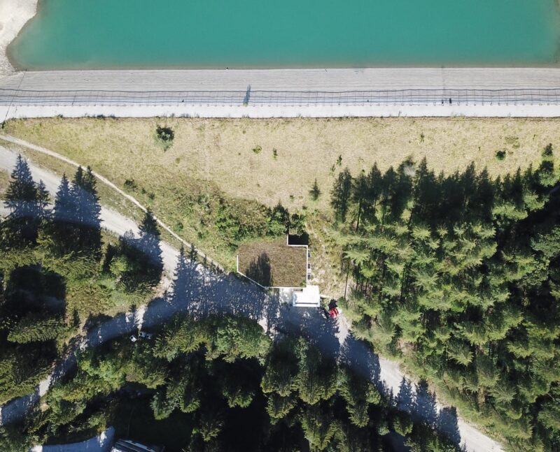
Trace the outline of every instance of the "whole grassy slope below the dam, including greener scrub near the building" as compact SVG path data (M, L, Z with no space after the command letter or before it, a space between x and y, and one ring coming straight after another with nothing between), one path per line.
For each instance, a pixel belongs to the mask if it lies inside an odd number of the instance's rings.
M512 118L48 118L9 121L4 131L92 166L227 270L235 269L239 243L258 236L238 237L228 225L262 219L259 206L279 201L290 210L310 207L317 212L316 220L308 215L315 231L313 277L337 296L339 281L330 281L338 279L339 258L325 246L321 224L330 217L330 189L342 168L356 174L377 163L384 170L412 156L426 157L430 168L444 173L471 161L493 176L512 173L538 161L547 143L560 147L559 124ZM158 126L174 133L167 150L154 139ZM25 153L62 168L50 157ZM321 195L312 200L315 180ZM114 192L99 189L111 207L138 218Z

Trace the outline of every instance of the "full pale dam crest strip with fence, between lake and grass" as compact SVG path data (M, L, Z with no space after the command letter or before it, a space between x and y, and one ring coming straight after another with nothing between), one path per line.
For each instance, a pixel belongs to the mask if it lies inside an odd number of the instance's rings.
M560 116L559 68L36 71L0 79L12 117Z

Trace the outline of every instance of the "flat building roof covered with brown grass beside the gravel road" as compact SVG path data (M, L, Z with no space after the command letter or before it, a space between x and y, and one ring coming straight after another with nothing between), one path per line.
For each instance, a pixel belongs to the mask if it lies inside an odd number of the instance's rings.
M305 286L306 249L288 247L286 238L243 244L238 256L239 271L262 286Z

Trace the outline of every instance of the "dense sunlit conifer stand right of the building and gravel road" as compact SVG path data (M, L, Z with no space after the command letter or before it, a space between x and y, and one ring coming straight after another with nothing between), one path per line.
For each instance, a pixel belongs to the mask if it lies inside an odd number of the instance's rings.
M332 188L345 314L513 450L560 448L560 184L538 167L491 178L426 161Z

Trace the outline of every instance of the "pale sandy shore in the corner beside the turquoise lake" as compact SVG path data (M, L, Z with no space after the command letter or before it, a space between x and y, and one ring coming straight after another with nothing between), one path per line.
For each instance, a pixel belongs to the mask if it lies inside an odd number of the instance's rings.
M37 0L0 0L0 78L13 73L6 48L36 11Z

